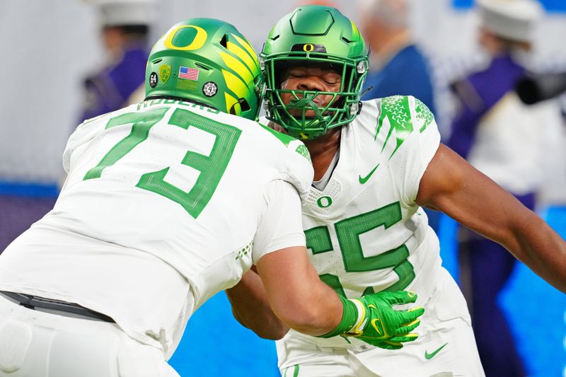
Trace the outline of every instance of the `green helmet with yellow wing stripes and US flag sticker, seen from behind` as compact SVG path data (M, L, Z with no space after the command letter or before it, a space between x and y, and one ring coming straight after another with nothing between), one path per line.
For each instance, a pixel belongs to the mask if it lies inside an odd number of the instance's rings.
M146 100L192 100L257 120L262 89L252 45L224 21L191 18L173 25L149 54Z

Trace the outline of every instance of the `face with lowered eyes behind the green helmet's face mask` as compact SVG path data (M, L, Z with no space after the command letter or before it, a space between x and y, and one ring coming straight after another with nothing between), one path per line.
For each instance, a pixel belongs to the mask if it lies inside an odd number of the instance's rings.
M299 91L296 95L302 98L303 93L300 91L319 91L332 92L340 91L342 75L329 66L291 66L284 71L282 77L281 88L287 91ZM291 102L294 95L291 93L282 93L281 95L285 105ZM318 94L313 98L318 108L324 108L331 100L333 95ZM338 98L336 97L335 100ZM301 110L290 110L291 115L300 115ZM308 110L305 115L307 117L314 116L313 110Z

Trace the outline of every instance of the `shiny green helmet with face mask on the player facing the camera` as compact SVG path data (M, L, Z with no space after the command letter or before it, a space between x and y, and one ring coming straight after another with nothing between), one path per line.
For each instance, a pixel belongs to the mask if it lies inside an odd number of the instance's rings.
M342 74L337 93L282 90L283 75L289 66L313 64L328 65ZM297 139L315 139L328 129L352 122L361 110L359 98L369 69L366 46L356 25L336 8L301 6L284 16L263 45L260 66L267 87L267 119ZM283 103L282 93L291 94L291 103ZM317 95L333 98L318 108L313 101ZM307 117L309 110L315 115Z

